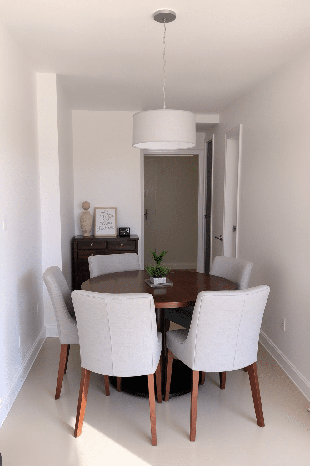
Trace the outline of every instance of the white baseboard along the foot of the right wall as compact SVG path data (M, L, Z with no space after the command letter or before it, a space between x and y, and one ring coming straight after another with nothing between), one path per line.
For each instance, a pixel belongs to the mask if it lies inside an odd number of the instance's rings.
M279 366L282 367L284 372L290 377L294 384L299 388L303 395L310 401L310 383L303 375L296 369L296 367L287 359L286 356L277 348L277 346L268 338L268 336L261 330L260 343L267 349L271 356L277 361Z

